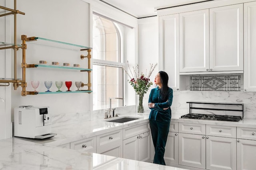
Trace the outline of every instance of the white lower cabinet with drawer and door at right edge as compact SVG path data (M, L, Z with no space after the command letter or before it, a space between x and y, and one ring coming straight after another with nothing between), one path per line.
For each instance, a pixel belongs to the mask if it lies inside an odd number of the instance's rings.
M237 127L237 170L254 170L256 160L256 129Z

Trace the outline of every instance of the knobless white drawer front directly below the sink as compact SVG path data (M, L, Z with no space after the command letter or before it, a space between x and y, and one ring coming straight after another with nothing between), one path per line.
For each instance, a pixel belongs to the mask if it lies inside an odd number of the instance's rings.
M132 127L127 127L123 129L124 139L128 139L130 137L134 137L136 135L139 135L141 133L145 133L148 131L150 131L148 122L140 125L132 126Z

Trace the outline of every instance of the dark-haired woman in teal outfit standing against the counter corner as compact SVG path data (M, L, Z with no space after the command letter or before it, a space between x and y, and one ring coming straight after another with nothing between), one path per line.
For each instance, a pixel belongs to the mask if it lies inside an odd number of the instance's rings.
M155 77L156 88L150 92L148 107L151 109L149 115L149 124L152 134L152 140L155 148L155 164L165 165L164 151L169 133L171 108L172 106L172 89L168 87L168 74L159 71Z

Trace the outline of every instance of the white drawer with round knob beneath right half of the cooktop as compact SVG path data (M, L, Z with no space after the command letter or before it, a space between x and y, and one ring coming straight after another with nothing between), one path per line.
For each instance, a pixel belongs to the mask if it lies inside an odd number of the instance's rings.
M236 138L236 127L206 125L206 135Z

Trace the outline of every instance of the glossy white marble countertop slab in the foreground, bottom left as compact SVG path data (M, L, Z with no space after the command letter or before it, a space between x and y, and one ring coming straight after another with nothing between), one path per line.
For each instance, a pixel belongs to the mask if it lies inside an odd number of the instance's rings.
M1 170L185 170L18 138L0 140L0 151Z

